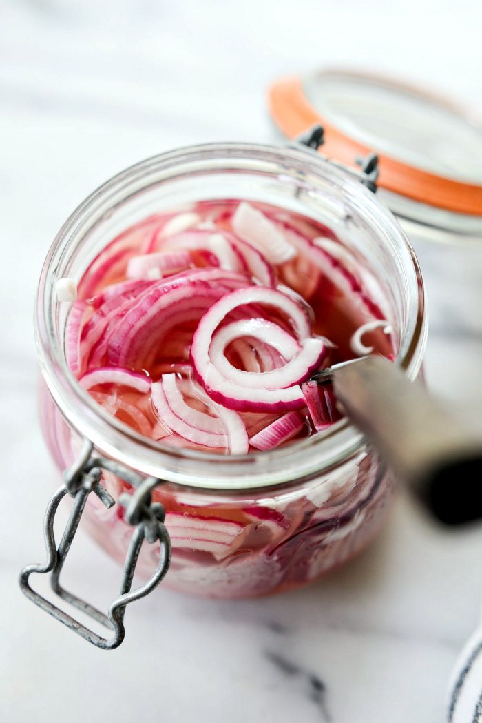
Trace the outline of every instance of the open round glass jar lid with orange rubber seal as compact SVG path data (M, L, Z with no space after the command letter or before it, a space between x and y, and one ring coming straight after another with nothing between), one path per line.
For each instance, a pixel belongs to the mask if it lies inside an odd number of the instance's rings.
M329 158L353 166L357 156L376 152L378 185L395 212L404 197L424 208L482 216L482 128L449 101L348 70L279 80L269 101L288 137L322 124L322 153Z

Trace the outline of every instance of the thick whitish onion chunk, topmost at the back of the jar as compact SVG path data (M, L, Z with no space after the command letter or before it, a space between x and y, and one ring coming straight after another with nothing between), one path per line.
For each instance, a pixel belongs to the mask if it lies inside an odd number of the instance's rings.
M296 256L296 248L285 239L275 223L249 203L243 201L238 205L232 223L235 234L261 249L269 262L282 264Z

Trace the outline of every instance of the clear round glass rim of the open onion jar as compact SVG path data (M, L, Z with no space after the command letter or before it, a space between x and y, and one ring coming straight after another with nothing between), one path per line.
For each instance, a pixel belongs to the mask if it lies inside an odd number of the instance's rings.
M360 215L368 221L381 239L403 252L409 278L408 329L400 340L395 363L410 379L421 367L426 344L426 308L423 281L415 252L390 210L380 204L348 172L335 167L321 155L304 147L229 142L181 147L136 163L116 174L88 196L69 216L49 249L40 275L35 314L35 340L40 369L53 401L66 421L83 437L88 437L101 453L152 476L158 476L183 487L218 491L242 491L278 487L318 475L352 457L363 446L361 432L342 419L325 432L318 432L291 445L247 455L215 455L190 449L167 448L155 440L139 435L119 422L96 403L79 385L70 371L56 333L54 313L55 281L59 267L76 234L87 219L103 218L113 202L125 200L133 187L147 187L148 174L159 168L170 169L180 163L199 159L207 164L219 161L234 163L244 159L242 168L251 170L256 164L289 162L293 171L309 172L318 179L329 179L339 187ZM254 165L253 165L254 164ZM82 234L80 234L82 238ZM77 239L79 241L79 239Z

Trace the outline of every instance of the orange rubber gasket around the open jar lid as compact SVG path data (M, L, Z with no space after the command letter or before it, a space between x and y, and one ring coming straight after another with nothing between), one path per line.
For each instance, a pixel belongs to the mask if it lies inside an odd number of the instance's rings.
M268 100L272 119L288 138L295 138L314 124L321 124L324 128L324 144L320 150L328 158L334 158L347 166L356 166L357 156L376 150L353 140L327 123L309 103L298 77L285 78L271 85ZM388 155L378 155L380 187L444 210L482 215L482 186L453 181L413 168Z

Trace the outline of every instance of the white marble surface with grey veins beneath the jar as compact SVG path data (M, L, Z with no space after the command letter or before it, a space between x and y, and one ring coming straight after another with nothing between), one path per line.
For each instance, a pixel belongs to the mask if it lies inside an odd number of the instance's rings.
M88 646L22 597L43 559L53 466L35 411L32 308L51 239L124 166L176 145L272 140L264 88L340 62L426 82L482 111L480 0L2 0L0 4L0 717L8 723L436 723L475 627L482 527L436 526L403 495L358 560L273 599L159 590L118 651ZM482 255L421 249L431 387L475 404ZM470 274L468 273L470 269ZM79 534L67 578L106 604L119 571Z

